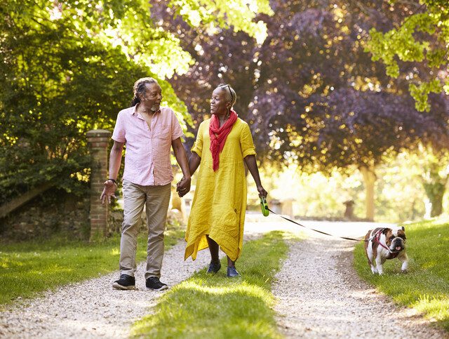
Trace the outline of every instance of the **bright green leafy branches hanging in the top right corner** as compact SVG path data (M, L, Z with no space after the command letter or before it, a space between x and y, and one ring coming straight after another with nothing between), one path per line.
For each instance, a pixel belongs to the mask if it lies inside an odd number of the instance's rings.
M401 1L390 3L390 11L409 11L401 8ZM366 51L372 53L373 60L384 62L390 77L397 78L403 74L410 81L415 107L429 112L429 93L449 93L446 79L449 69L449 8L445 0L423 0L421 3L416 12L425 6L424 13L406 15L399 27L385 33L370 29ZM401 72L398 60L413 62L413 71Z

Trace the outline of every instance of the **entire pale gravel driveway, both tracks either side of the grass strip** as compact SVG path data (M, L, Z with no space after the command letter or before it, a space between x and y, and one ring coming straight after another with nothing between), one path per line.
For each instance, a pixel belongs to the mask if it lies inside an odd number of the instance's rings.
M269 222L248 218L246 240L271 230L298 231L293 224L270 218L262 219ZM355 237L361 227L373 225L316 222L309 227ZM413 310L395 306L361 281L351 265L353 242L307 234L306 240L292 241L273 288L279 300L277 321L286 338L449 338ZM206 253L184 262L184 246L180 241L164 256L162 281L169 286L208 264ZM112 281L119 277L114 272L24 300L0 313L0 338L126 338L131 324L151 312L149 308L163 294L145 289L143 272L140 264L137 291L112 289Z

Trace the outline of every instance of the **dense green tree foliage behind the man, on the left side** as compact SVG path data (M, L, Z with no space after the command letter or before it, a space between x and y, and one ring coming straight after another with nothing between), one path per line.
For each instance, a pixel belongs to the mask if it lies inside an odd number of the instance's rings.
M52 18L43 3L26 5L8 1L2 8L1 201L48 181L81 194L90 173L86 132L112 130L133 81L148 74L88 28L93 21L97 30L112 25L104 11L67 3L53 8L60 18ZM161 82L168 103L186 116Z

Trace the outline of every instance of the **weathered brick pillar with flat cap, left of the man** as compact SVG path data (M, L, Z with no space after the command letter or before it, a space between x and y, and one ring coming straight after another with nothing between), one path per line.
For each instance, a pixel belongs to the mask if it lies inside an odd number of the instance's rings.
M88 131L87 140L91 150L91 241L102 239L107 231L108 204L102 204L100 195L107 179L107 149L111 132L104 129Z

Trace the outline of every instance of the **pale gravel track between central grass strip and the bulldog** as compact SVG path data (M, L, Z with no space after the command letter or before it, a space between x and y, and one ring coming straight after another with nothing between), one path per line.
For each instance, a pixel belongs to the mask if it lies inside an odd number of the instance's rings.
M290 247L274 295L287 338L449 338L361 281L351 241L311 236ZM368 264L367 264L368 265Z

